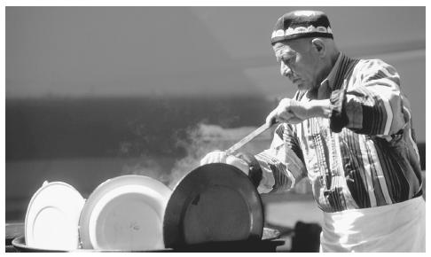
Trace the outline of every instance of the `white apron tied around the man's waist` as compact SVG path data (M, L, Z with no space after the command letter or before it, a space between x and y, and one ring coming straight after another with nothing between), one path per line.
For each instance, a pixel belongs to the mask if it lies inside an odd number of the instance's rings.
M425 252L425 218L422 197L324 213L320 252Z

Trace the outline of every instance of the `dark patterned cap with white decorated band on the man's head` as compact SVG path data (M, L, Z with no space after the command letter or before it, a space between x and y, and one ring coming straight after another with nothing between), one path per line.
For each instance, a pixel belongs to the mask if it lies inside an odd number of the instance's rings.
M278 43L302 37L333 38L333 30L324 12L294 11L280 18L270 37L270 43Z

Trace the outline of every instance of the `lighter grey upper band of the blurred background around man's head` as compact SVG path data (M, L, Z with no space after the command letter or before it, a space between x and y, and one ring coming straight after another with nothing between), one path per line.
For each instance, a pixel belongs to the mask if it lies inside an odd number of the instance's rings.
M341 51L396 67L425 141L420 6L7 6L5 98L291 97L270 33L294 9L326 12Z

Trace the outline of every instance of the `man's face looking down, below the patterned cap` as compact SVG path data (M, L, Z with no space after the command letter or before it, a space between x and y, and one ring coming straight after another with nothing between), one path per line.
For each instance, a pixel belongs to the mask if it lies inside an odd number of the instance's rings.
M298 90L310 90L317 84L317 53L310 38L275 43L273 50L280 63L280 73L293 82Z

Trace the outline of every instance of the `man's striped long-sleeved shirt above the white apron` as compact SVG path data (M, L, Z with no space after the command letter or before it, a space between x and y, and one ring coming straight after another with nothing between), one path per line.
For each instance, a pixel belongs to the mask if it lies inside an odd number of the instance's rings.
M287 191L308 176L324 212L384 206L422 193L409 101L393 66L340 54L316 90L299 101L329 98L329 119L280 124L270 149L257 154L260 192Z

